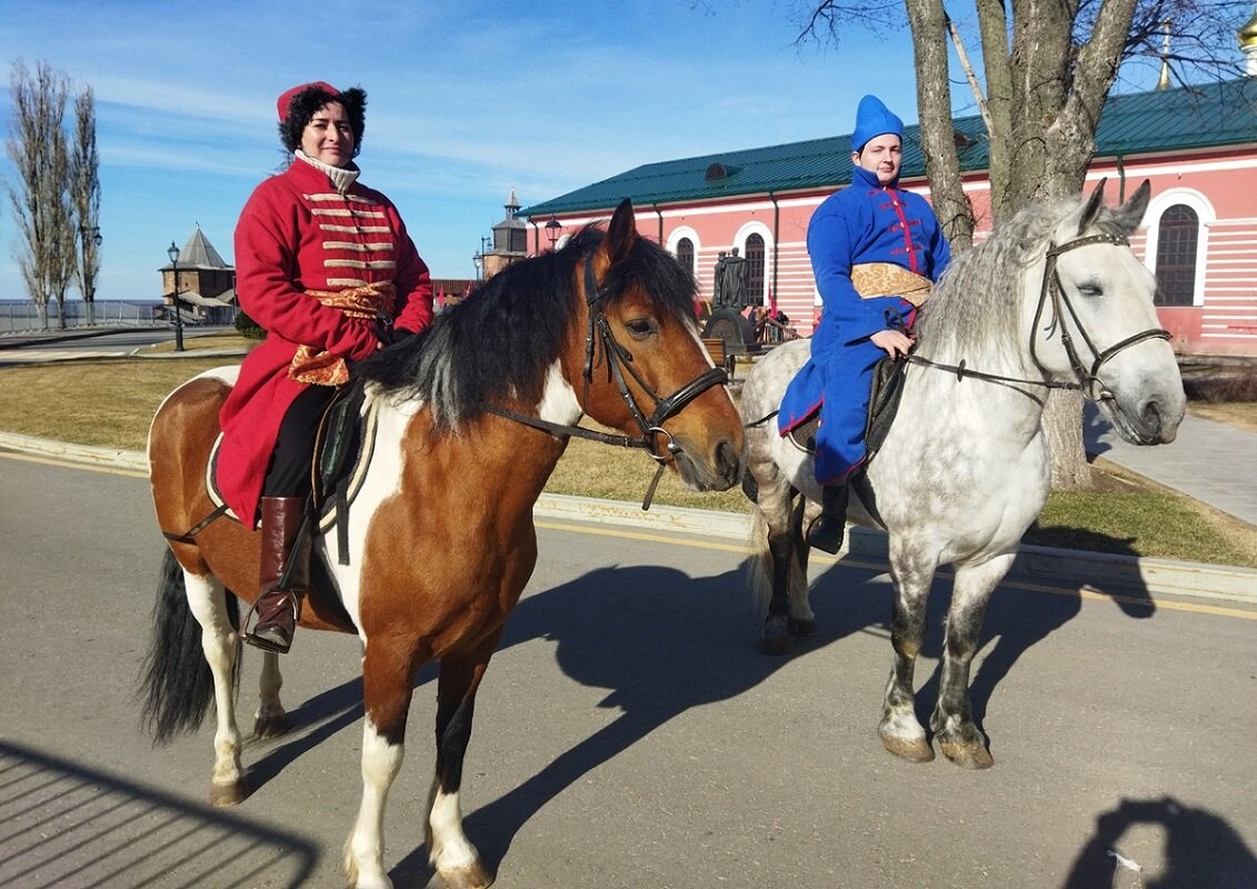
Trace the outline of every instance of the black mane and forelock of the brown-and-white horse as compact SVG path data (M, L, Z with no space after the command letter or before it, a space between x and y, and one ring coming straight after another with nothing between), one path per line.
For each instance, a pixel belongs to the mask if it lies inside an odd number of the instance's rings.
M434 425L442 428L456 428L503 399L539 401L576 317L577 264L603 236L588 225L562 249L507 267L419 336L365 361L358 375L385 395L426 401ZM646 238L635 238L628 255L608 269L605 306L634 285L660 313L694 317L694 277Z

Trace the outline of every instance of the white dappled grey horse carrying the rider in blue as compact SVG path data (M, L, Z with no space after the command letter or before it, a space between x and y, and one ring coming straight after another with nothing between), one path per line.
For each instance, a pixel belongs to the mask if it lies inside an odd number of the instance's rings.
M969 668L991 594L1047 499L1041 419L1050 389L1080 389L1135 444L1173 441L1183 419L1178 365L1153 308L1155 280L1128 244L1149 185L1115 209L1102 196L1104 182L1085 204L1028 207L954 260L921 308L896 420L851 498L854 521L876 527L876 517L889 532L895 659L880 734L904 758L934 757L916 719L913 671L930 585L950 563L930 729L952 761L992 763L970 713ZM747 487L758 487L762 518L752 580L771 588L762 646L773 654L816 626L801 528L821 489L812 455L781 438L773 416L807 356L807 341L778 347L742 394L754 480Z

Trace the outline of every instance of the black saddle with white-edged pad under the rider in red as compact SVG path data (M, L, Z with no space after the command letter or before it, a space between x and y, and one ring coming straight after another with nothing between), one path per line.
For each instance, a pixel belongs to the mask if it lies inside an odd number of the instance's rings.
M372 402L363 411L365 402L366 391L361 385L337 390L319 422L310 467L313 493L307 512L317 518L321 533L336 528L337 561L341 565L349 563L349 507L362 489L376 443L376 405ZM215 478L221 446L222 433L219 433L205 467L205 489L217 514L240 522L240 517L222 499Z

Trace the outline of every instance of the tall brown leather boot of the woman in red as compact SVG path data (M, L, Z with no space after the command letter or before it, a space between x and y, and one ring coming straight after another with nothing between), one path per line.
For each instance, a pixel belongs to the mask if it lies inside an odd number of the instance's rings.
M254 610L258 622L244 640L250 645L287 654L293 644L302 599L309 588L309 547L297 536L304 518L305 498L261 498L261 566L260 587ZM288 588L279 588L288 563L293 562Z

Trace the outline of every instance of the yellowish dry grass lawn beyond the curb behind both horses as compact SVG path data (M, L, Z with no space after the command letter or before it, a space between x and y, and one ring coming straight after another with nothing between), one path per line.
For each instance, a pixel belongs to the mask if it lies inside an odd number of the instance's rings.
M39 438L141 450L153 412L167 392L196 373L240 357L204 356L207 351L245 351L254 343L238 336L189 337L184 357L104 358L16 365L0 368L0 429ZM172 351L170 342L150 350ZM745 366L739 366L743 377ZM1192 402L1193 414L1257 431L1257 402ZM655 464L637 450L572 441L547 490L558 494L641 502ZM1100 489L1053 494L1027 542L1045 546L1129 552L1160 558L1239 565L1257 568L1257 527L1097 463ZM700 494L667 472L655 503L748 512L740 489Z

